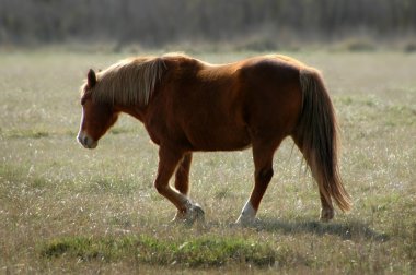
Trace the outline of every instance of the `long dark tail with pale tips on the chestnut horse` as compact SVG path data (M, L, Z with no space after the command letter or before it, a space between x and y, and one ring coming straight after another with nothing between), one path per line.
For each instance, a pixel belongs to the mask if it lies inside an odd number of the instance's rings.
M302 112L293 140L303 153L320 192L328 205L343 212L351 208L350 196L343 186L338 169L337 122L327 89L319 71L300 70Z

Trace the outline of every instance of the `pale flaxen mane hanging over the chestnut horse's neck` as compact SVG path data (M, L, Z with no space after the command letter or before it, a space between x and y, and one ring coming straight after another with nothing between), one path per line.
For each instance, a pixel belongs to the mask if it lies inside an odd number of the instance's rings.
M96 74L92 100L111 105L148 105L166 65L160 57L122 60Z

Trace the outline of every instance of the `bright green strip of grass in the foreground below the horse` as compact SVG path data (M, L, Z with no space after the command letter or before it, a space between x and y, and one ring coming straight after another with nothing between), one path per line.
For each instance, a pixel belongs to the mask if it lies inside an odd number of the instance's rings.
M278 251L266 243L250 239L217 236L188 240L166 240L154 237L66 237L44 243L41 256L77 258L82 261L117 262L132 259L154 265L211 267L244 263L255 266L273 266L290 262L293 253L284 248Z

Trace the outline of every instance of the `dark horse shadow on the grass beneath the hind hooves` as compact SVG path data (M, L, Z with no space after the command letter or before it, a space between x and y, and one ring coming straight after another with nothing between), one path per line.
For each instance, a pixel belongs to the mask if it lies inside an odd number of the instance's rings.
M258 231L280 231L282 234L313 234L313 235L334 235L339 236L345 240L363 238L374 241L388 241L389 235L378 232L371 229L368 225L358 222L349 220L346 223L322 223L316 220L276 220L261 219L254 225L249 226Z

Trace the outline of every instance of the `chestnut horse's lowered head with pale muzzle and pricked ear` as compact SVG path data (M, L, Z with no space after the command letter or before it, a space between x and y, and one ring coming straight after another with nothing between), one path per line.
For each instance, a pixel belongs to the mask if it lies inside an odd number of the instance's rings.
M78 141L85 148L95 148L101 136L117 121L118 111L114 106L93 100L96 93L97 79L95 72L90 70L86 84L83 86L81 105L82 118Z

